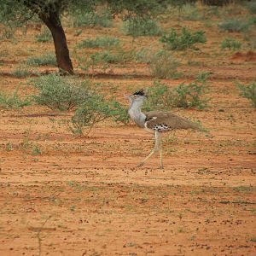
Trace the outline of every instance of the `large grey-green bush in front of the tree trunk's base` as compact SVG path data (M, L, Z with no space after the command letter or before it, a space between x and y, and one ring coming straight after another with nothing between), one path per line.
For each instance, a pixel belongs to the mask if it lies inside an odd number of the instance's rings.
M88 100L88 82L76 81L61 77L59 74L49 74L33 80L39 90L39 95L34 96L38 104L50 109L70 110Z

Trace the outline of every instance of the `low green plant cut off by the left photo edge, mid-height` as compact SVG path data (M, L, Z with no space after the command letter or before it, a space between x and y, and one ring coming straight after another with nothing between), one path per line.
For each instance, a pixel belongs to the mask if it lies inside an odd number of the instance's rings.
M31 105L28 97L21 99L18 96L18 88L12 96L7 96L3 91L0 91L0 108L24 108Z

